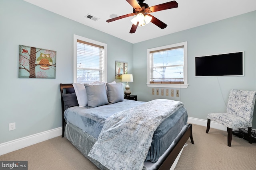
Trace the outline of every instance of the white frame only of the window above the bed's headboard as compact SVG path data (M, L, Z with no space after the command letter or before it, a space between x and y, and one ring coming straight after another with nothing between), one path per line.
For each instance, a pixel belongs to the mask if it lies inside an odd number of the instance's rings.
M73 82L76 83L77 80L77 40L85 41L88 43L100 45L104 47L104 81L107 81L107 44L88 39L79 35L74 34L74 53L73 53Z

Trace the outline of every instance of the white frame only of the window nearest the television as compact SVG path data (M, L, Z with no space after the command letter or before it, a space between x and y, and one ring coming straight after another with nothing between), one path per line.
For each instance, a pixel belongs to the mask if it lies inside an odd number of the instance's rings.
M150 83L150 51L174 48L174 47L184 47L184 84L160 84L160 83ZM159 87L159 88L188 88L188 50L187 50L187 41L182 43L176 43L171 45L166 45L162 47L156 47L147 50L147 58L148 58L148 65L147 65L147 86L148 87Z

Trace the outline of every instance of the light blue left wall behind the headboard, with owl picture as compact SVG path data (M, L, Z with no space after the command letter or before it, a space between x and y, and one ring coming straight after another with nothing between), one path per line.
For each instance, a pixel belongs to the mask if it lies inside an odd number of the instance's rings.
M0 143L61 127L59 84L73 82L74 34L108 45L108 82L116 60L128 62L132 73L131 43L23 0L0 1ZM18 78L19 45L57 51L56 79Z

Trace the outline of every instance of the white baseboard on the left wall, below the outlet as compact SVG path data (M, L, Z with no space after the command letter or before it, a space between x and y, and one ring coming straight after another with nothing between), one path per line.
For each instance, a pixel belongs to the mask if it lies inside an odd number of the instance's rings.
M49 131L44 131L44 132L30 135L27 137L15 139L13 141L9 141L6 143L1 143L0 155L12 152L14 150L22 149L30 145L34 145L36 143L40 143L48 139L52 139L54 137L58 137L61 134L62 134L62 127L58 127L56 129L51 129Z

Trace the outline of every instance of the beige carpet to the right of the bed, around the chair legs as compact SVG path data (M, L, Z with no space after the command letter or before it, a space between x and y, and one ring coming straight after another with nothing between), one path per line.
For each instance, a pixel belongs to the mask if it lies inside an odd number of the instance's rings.
M226 131L193 125L195 145L188 140L175 170L256 170L256 143L232 136L227 145Z

